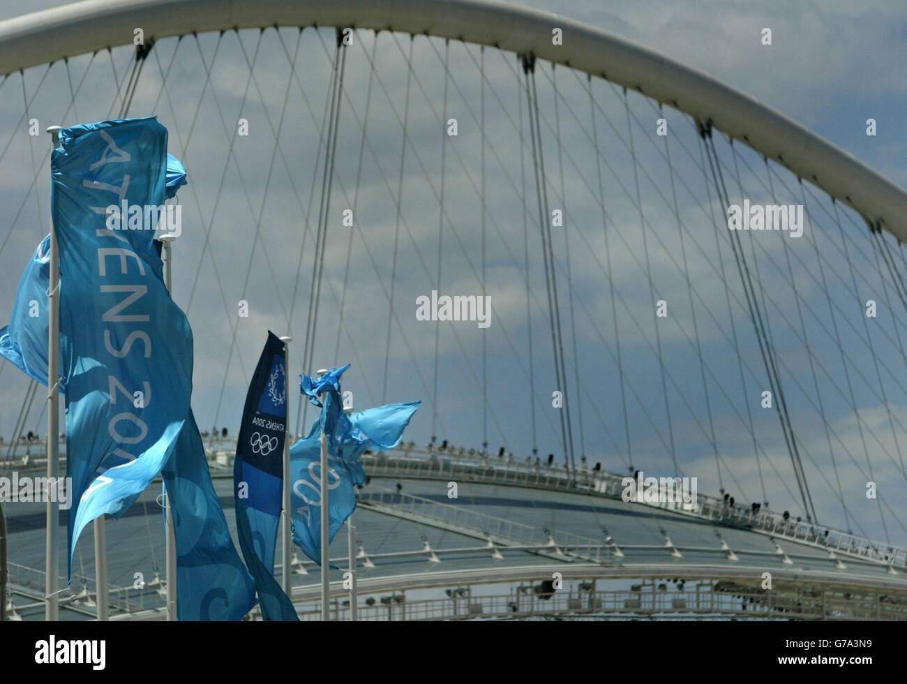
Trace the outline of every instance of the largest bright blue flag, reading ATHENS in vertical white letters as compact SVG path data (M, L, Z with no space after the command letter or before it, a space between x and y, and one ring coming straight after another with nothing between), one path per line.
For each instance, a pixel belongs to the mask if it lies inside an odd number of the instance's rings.
M192 333L164 288L152 230L109 230L107 207L164 203L167 129L155 119L63 129L51 158L70 571L84 526L121 515L161 473L189 415Z

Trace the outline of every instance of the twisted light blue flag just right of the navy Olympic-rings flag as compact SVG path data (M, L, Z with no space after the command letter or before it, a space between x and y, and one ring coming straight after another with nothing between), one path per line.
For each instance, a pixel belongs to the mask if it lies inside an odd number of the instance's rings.
M377 406L353 415L343 411L340 376L349 367L331 368L317 380L302 376L300 389L321 406L308 435L290 449L293 541L313 561L321 562L321 445L327 436L328 540L330 543L356 510L356 484L366 481L359 462L366 449L383 451L400 444L406 425L422 402ZM319 400L319 396L322 397Z

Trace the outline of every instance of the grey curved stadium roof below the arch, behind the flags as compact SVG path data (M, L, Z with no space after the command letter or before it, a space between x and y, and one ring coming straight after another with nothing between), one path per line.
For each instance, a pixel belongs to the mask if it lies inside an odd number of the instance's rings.
M472 474L465 477L462 471L456 473L458 465L464 464L473 464ZM763 581L768 572L774 581L792 581L801 587L907 593L907 573L902 568L895 569L872 555L829 547L821 534L815 541L795 540L752 525L625 503L609 493L594 491L594 487L562 491L558 489L566 476L562 469L551 469L555 475L551 482L532 487L494 484L494 480L547 468L481 456L426 458L395 452L380 463L371 460L366 469L374 474L360 493L355 515L360 595L462 584L541 582L550 580L552 572L560 572L567 581L648 578L732 581L749 586ZM212 458L211 470L232 528L232 467L223 452L220 459ZM600 482L614 478L586 475ZM456 498L448 496L453 481ZM121 617L128 617L127 613L133 617L162 614L162 599L153 581L154 568L162 565L164 556L155 491L151 487L120 521L108 525L112 585L132 587L138 579L136 572L151 584L144 591L112 591L112 610ZM12 583L27 589L26 569L41 567L44 557L41 504L17 506L9 528ZM331 572L332 594L336 596L346 593L342 588L346 549L344 529L331 547L336 565ZM81 578L94 574L92 553L86 552L85 542L76 554L75 571L78 576L71 590L78 595L83 591ZM295 571L294 601L297 605L316 601L317 566L307 560L296 562ZM43 578L36 575L37 592ZM90 580L85 584L90 592ZM15 604L24 606L19 612L26 619L43 614L41 603L28 608L27 591L20 591ZM75 601L64 604L68 618L93 617L90 608L80 609Z

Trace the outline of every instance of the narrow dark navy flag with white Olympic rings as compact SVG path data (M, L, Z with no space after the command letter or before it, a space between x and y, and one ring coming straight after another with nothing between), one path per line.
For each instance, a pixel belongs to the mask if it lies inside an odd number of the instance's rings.
M255 580L265 620L298 620L293 603L274 579L274 549L283 509L286 434L284 345L268 331L268 341L246 395L233 462L239 548Z

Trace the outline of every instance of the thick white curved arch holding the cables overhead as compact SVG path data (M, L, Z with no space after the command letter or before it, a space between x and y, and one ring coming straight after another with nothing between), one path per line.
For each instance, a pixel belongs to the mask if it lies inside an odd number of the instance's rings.
M431 34L566 64L746 142L907 241L907 193L780 112L663 54L558 15L489 0L83 0L0 22L0 73L173 35L272 25ZM551 30L563 44L551 43Z

